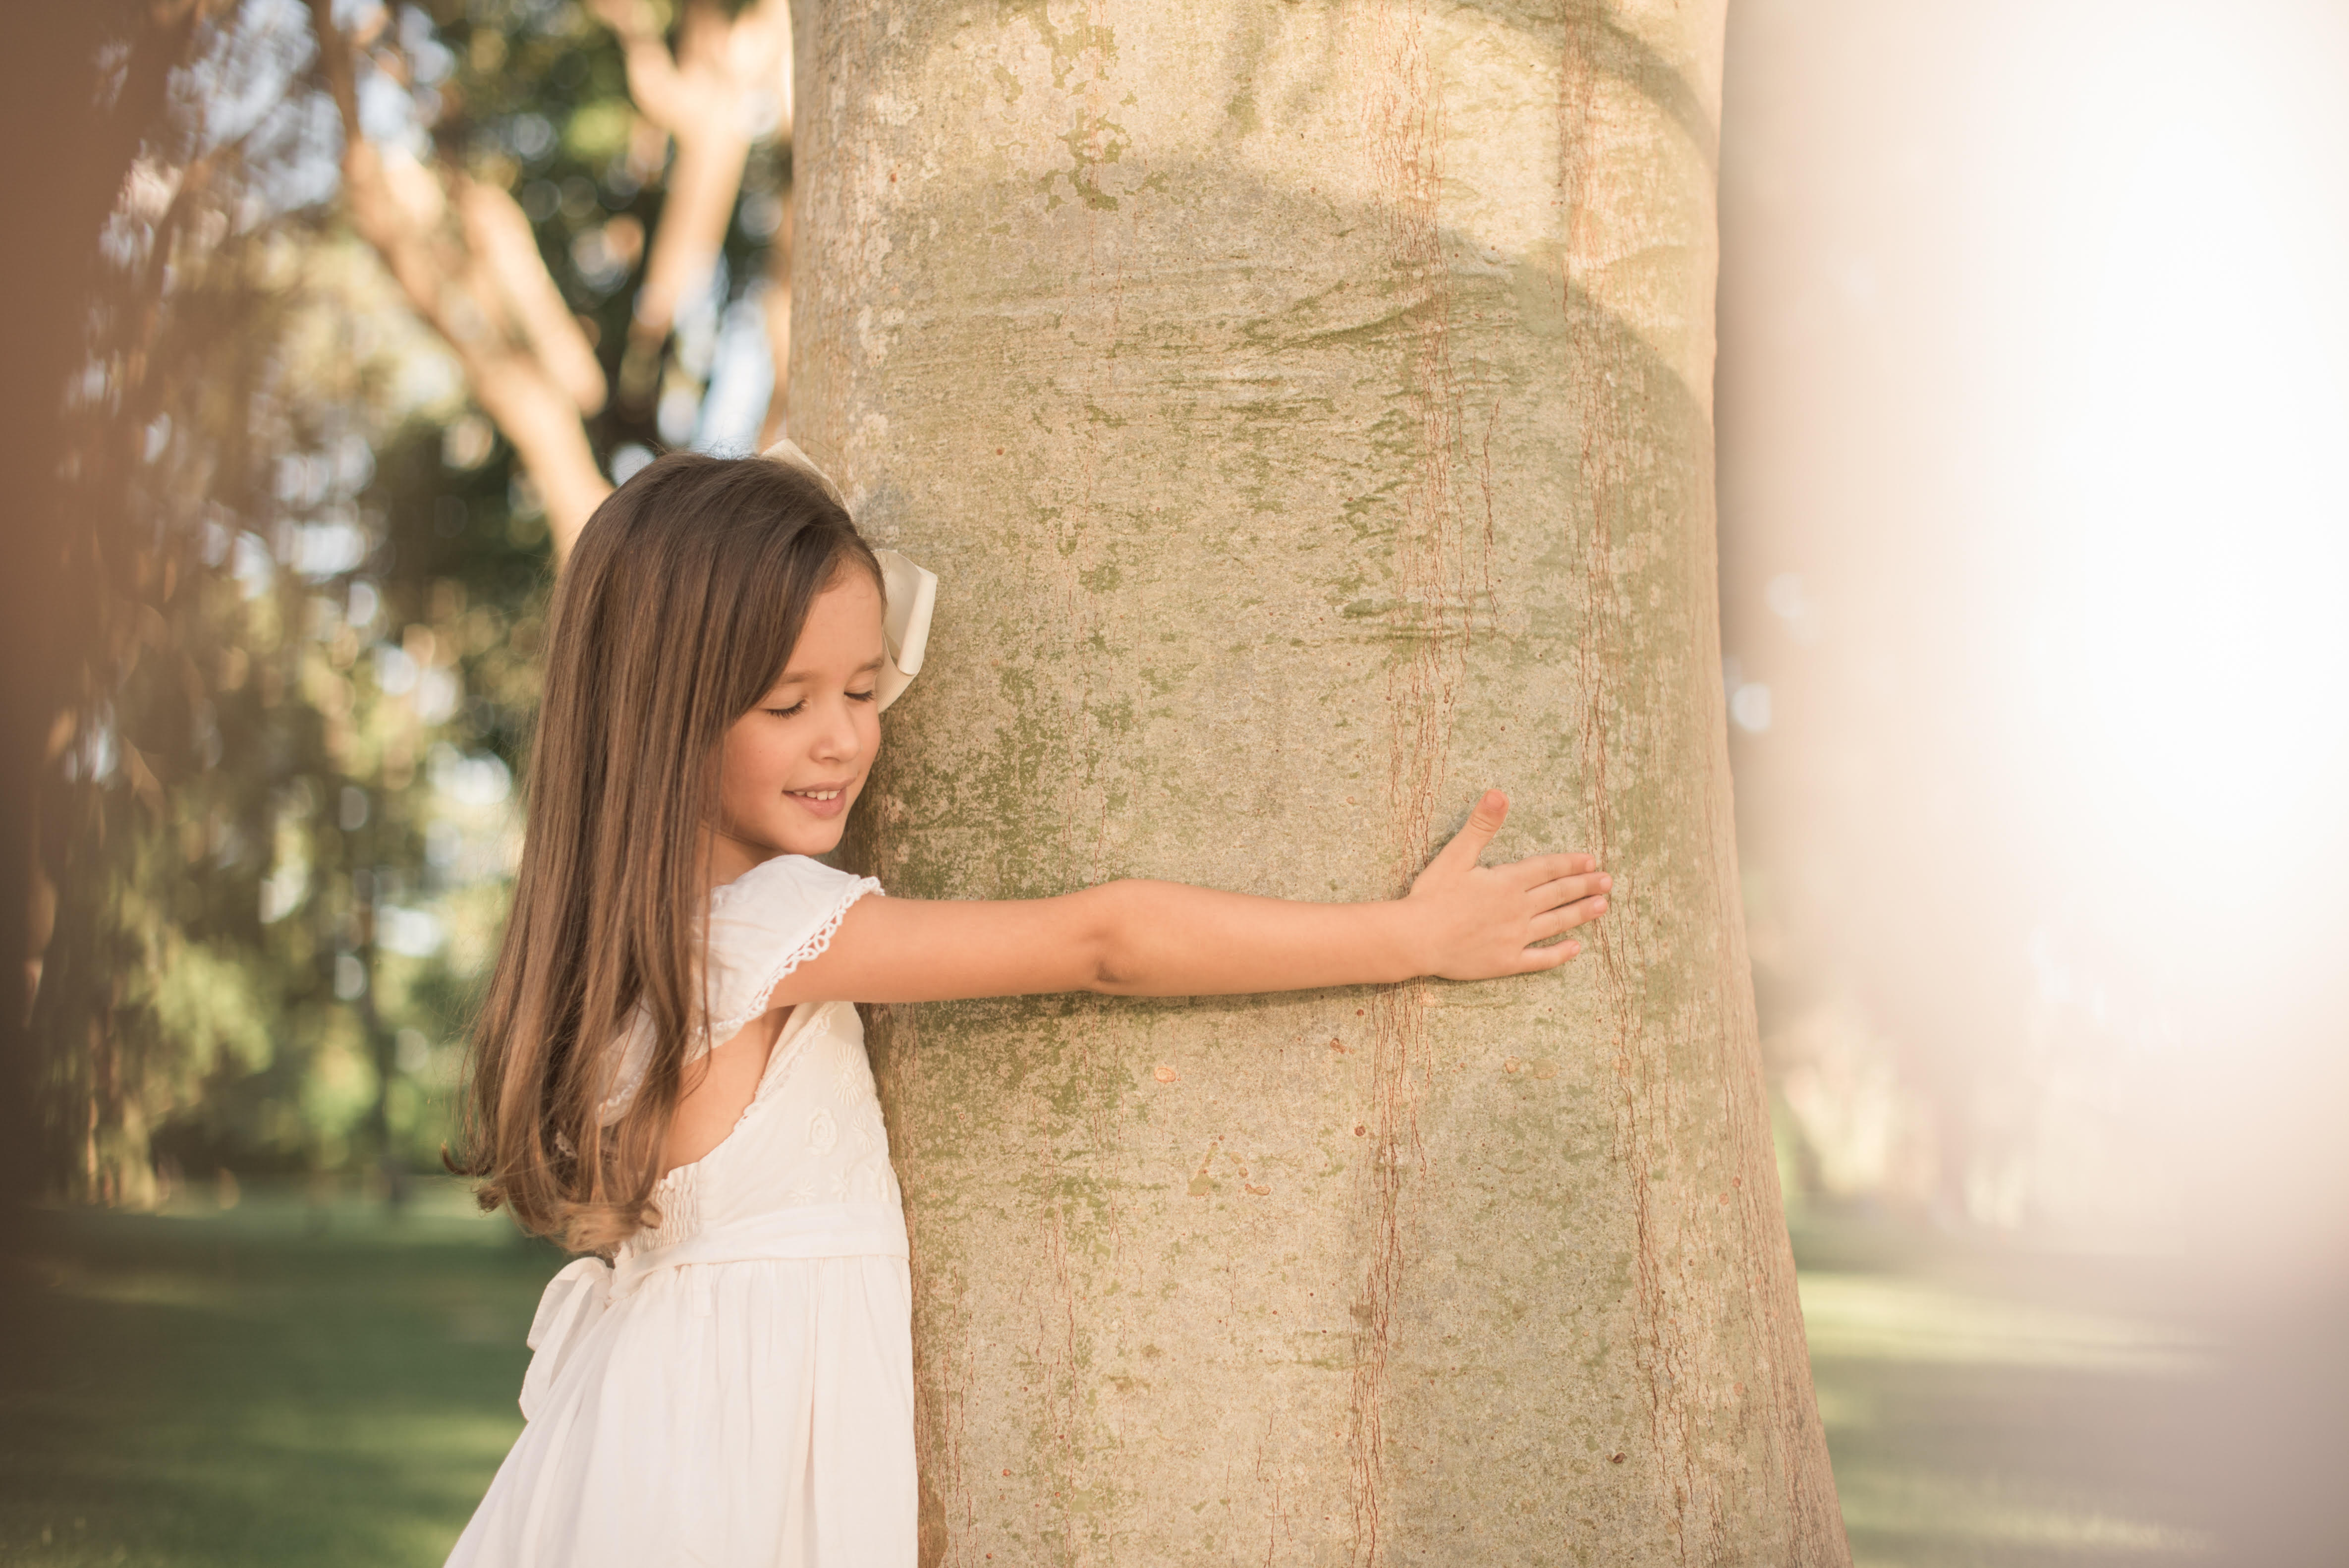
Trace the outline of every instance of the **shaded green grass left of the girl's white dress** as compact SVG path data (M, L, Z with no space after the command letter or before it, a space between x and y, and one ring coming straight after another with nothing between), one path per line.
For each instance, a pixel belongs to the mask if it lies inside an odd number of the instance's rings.
M554 1256L381 1204L45 1214L0 1289L0 1563L439 1563Z

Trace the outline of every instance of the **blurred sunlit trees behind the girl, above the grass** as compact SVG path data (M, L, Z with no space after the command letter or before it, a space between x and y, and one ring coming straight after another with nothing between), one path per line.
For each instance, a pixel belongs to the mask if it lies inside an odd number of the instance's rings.
M45 1185L435 1160L554 552L780 425L775 0L193 5L99 244L35 807Z

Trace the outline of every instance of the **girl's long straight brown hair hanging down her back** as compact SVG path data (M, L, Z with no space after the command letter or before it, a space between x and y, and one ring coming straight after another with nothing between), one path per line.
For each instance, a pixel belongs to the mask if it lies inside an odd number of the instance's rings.
M505 1204L573 1251L658 1218L700 1016L719 746L850 568L881 580L839 502L761 458L672 453L587 519L554 587L521 871L449 1155L484 1209ZM611 1042L639 1002L651 1066L604 1127Z

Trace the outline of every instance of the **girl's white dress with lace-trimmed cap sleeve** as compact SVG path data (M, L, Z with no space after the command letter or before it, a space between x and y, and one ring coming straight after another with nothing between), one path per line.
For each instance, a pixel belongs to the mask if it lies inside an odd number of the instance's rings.
M721 887L702 1047L874 890L796 854ZM855 1007L796 1007L733 1134L653 1197L658 1228L547 1284L529 1425L451 1568L911 1568L904 1211Z

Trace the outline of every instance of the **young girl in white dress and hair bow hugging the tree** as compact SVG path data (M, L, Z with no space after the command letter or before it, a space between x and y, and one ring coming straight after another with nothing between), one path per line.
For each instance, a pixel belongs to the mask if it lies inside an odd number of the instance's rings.
M1478 864L1499 793L1381 904L886 899L813 857L921 662L928 573L888 568L796 448L653 462L564 568L458 1169L587 1256L453 1566L911 1568L907 1232L855 1002L1529 974L1607 906L1583 854Z

